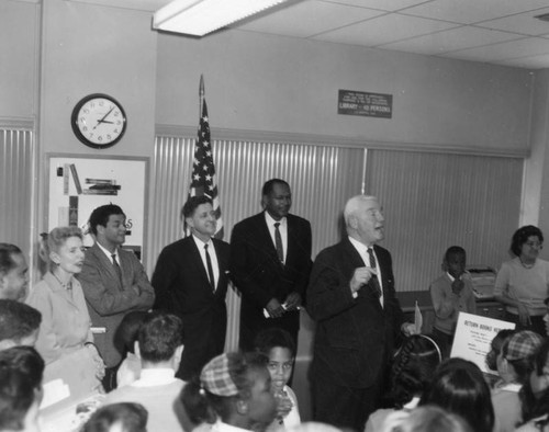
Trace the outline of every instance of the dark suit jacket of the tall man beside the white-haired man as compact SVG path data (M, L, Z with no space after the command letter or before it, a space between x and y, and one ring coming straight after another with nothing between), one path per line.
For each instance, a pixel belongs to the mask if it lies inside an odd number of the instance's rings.
M267 320L272 321L271 318L266 319L262 312L271 298L283 303L290 293L296 292L305 299L312 264L311 224L294 215L288 215L287 220L288 251L284 265L278 259L264 213L242 220L233 229L231 273L243 295L240 326L260 328ZM299 312L288 312L284 318L290 318L288 330L296 332Z

